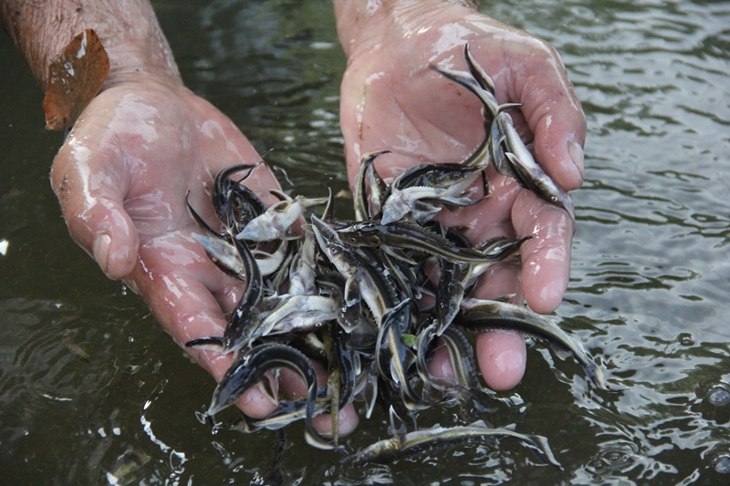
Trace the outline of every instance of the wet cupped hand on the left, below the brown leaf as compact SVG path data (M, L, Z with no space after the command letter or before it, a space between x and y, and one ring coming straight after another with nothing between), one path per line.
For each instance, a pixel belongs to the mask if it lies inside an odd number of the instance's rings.
M51 182L72 238L112 279L123 280L150 306L178 343L222 336L241 295L241 283L221 272L193 241L201 232L185 195L214 222L212 176L237 163L261 158L235 124L177 81L127 81L102 91L84 110L53 163ZM245 184L261 195L278 188L266 166ZM216 380L230 355L188 349ZM323 375L323 373L319 373ZM285 376L287 376L285 374ZM288 383L287 383L288 382ZM300 393L296 377L284 388ZM275 402L252 388L237 405L254 418ZM354 409L340 415L340 432L354 428ZM318 418L327 432L331 420Z

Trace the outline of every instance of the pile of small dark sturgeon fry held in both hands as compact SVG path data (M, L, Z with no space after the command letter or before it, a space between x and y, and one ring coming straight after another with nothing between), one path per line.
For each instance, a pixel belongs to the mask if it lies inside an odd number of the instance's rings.
M389 184L374 167L388 152L366 154L353 191L354 220L336 217L331 192L328 198L312 199L271 191L280 202L266 207L241 183L256 167L250 164L227 168L214 178L211 197L219 228L189 206L205 230L194 235L196 241L225 273L245 282L223 336L187 343L234 357L214 390L208 417L233 405L246 389L266 383L266 377L276 377L279 368L288 368L307 384L306 397L281 399L269 417L242 414L227 427L252 432L303 419L309 444L341 451L339 410L362 400L370 417L377 399L391 419L393 438L361 450L358 462L391 460L454 441L506 437L558 464L544 438L494 429L479 418L454 428L418 430L415 425L418 411L425 408L460 404L478 413L494 399L479 383L464 330L506 328L545 338L568 349L593 383L605 388L600 368L552 320L509 304L509 295L495 300L471 296L485 284L480 277L487 270L518 261L529 237L474 246L434 220L444 208L488 197L489 165L573 215L568 195L540 169L516 133L507 112L518 105L497 104L491 78L468 47L464 57L468 71L434 69L481 100L485 141L458 163L418 165ZM454 378L429 371L437 342L448 350ZM326 386L318 387L312 361L327 370ZM312 418L322 413L332 414L331 438L312 426Z

